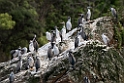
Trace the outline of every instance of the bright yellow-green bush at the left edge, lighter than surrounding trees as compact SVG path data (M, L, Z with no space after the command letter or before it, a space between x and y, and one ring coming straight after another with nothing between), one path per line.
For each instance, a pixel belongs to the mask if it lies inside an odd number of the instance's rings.
M12 16L8 13L0 14L0 28L1 29L12 29L16 22L12 20Z

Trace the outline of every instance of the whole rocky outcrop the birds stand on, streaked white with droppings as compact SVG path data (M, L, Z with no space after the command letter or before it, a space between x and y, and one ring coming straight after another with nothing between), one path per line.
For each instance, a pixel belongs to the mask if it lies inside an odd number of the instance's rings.
M81 42L80 46L74 49L74 34L77 28L73 29L67 36L64 50L59 57L48 60L46 57L50 43L38 50L41 60L41 68L38 72L31 72L25 69L26 58L30 53L23 55L23 67L16 72L17 58L8 62L0 63L0 83L9 83L9 74L14 69L14 83L84 83L84 77L90 83L124 83L124 49L117 50L114 43L110 46L104 45L101 34L107 33L110 40L113 40L113 22L109 17L101 17L92 23L86 23L86 34L91 35L88 41ZM68 60L68 51L72 49L76 58L75 69L71 68ZM36 54L35 54L36 55Z

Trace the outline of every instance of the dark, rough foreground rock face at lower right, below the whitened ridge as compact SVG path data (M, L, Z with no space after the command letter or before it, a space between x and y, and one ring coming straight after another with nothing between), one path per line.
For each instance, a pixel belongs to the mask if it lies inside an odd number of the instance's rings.
M87 76L91 83L123 83L124 57L116 49L89 41L85 47L75 50L76 69L72 70L68 59L46 72L44 83L84 83Z

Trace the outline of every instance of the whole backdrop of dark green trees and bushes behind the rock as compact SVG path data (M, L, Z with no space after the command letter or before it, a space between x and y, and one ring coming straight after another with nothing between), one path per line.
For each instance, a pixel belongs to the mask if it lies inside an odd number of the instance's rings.
M9 53L19 45L28 46L34 34L43 45L47 42L45 31L54 29L54 26L60 30L60 22L66 22L68 16L72 18L72 27L77 27L79 14L86 15L88 6L92 7L91 19L110 15L110 7L117 9L121 19L122 3L123 0L0 0L0 48L3 53ZM1 17L3 14L5 16ZM123 32L117 33L119 46L123 45Z

